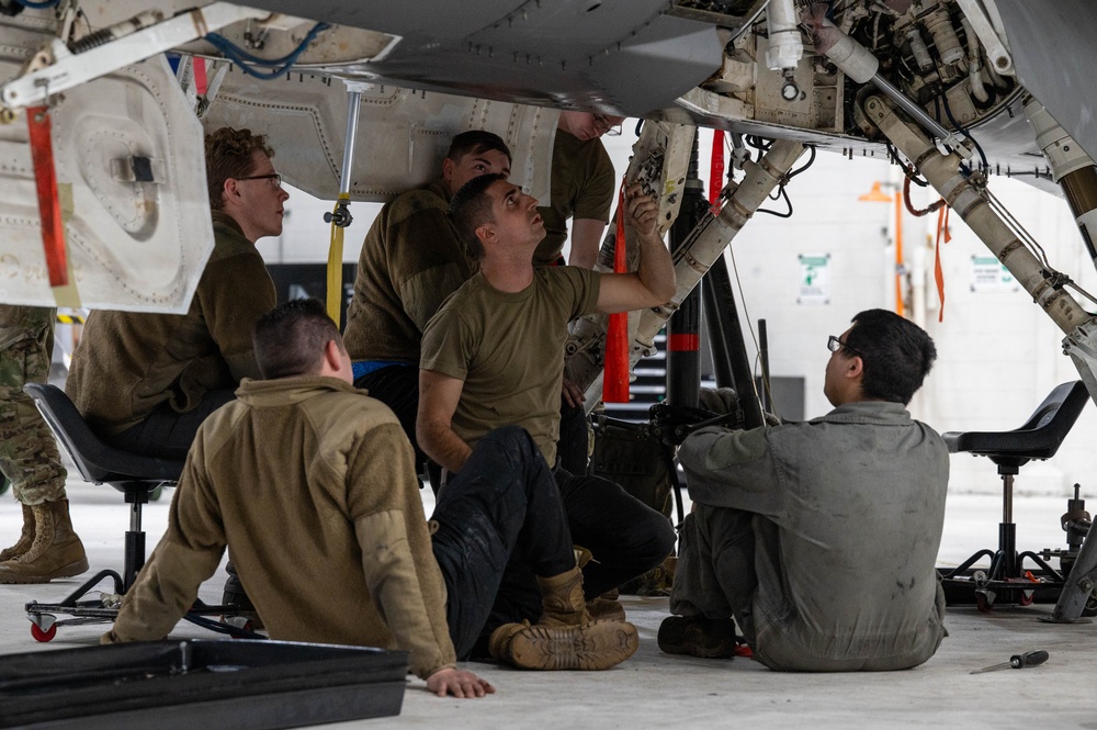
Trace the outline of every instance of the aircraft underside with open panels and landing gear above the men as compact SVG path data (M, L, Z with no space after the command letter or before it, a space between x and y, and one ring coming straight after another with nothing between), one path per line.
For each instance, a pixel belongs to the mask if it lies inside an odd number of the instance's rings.
M678 294L634 317L633 360L815 147L891 156L936 189L1097 393L1088 296L986 183L1024 176L1064 195L1097 258L1097 97L1081 60L1097 9L1083 0L30 4L0 1L2 301L185 310L212 247L203 127L268 132L289 182L351 202L426 180L453 133L487 127L514 150L516 181L546 198L556 115L578 109L645 120L629 177L659 198L665 231L695 128L734 141L735 180L676 249ZM32 159L43 134L56 193ZM751 156L744 137L772 142ZM604 329L585 322L568 345L570 375L595 392Z

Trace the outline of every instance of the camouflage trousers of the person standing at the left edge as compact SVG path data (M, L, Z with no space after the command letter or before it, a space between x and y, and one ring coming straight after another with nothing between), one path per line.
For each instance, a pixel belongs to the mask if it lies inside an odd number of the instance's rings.
M65 498L65 478L54 435L24 383L49 374L56 310L0 305L0 471L24 505Z

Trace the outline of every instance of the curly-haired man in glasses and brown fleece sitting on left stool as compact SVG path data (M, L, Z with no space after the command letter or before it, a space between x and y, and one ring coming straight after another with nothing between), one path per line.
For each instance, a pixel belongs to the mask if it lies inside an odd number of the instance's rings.
M182 461L199 425L258 378L251 325L276 303L256 242L282 233L290 195L264 135L206 135L214 249L183 315L92 312L66 391L105 440Z

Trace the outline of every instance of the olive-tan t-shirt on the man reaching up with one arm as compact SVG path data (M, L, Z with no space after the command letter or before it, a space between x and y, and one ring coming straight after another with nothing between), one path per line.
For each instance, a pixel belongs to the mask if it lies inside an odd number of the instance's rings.
M454 433L470 446L502 426L521 426L550 465L559 437L559 389L567 323L598 303L599 274L536 269L514 294L475 274L442 304L422 337L423 370L464 381Z

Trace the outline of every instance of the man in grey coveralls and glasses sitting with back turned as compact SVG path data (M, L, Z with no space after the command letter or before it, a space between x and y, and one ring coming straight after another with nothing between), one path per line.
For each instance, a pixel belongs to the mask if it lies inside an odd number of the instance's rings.
M940 645L949 454L905 407L937 350L884 310L858 314L828 348L827 415L702 428L682 443L693 512L663 651L731 658L735 622L774 670L902 670Z

